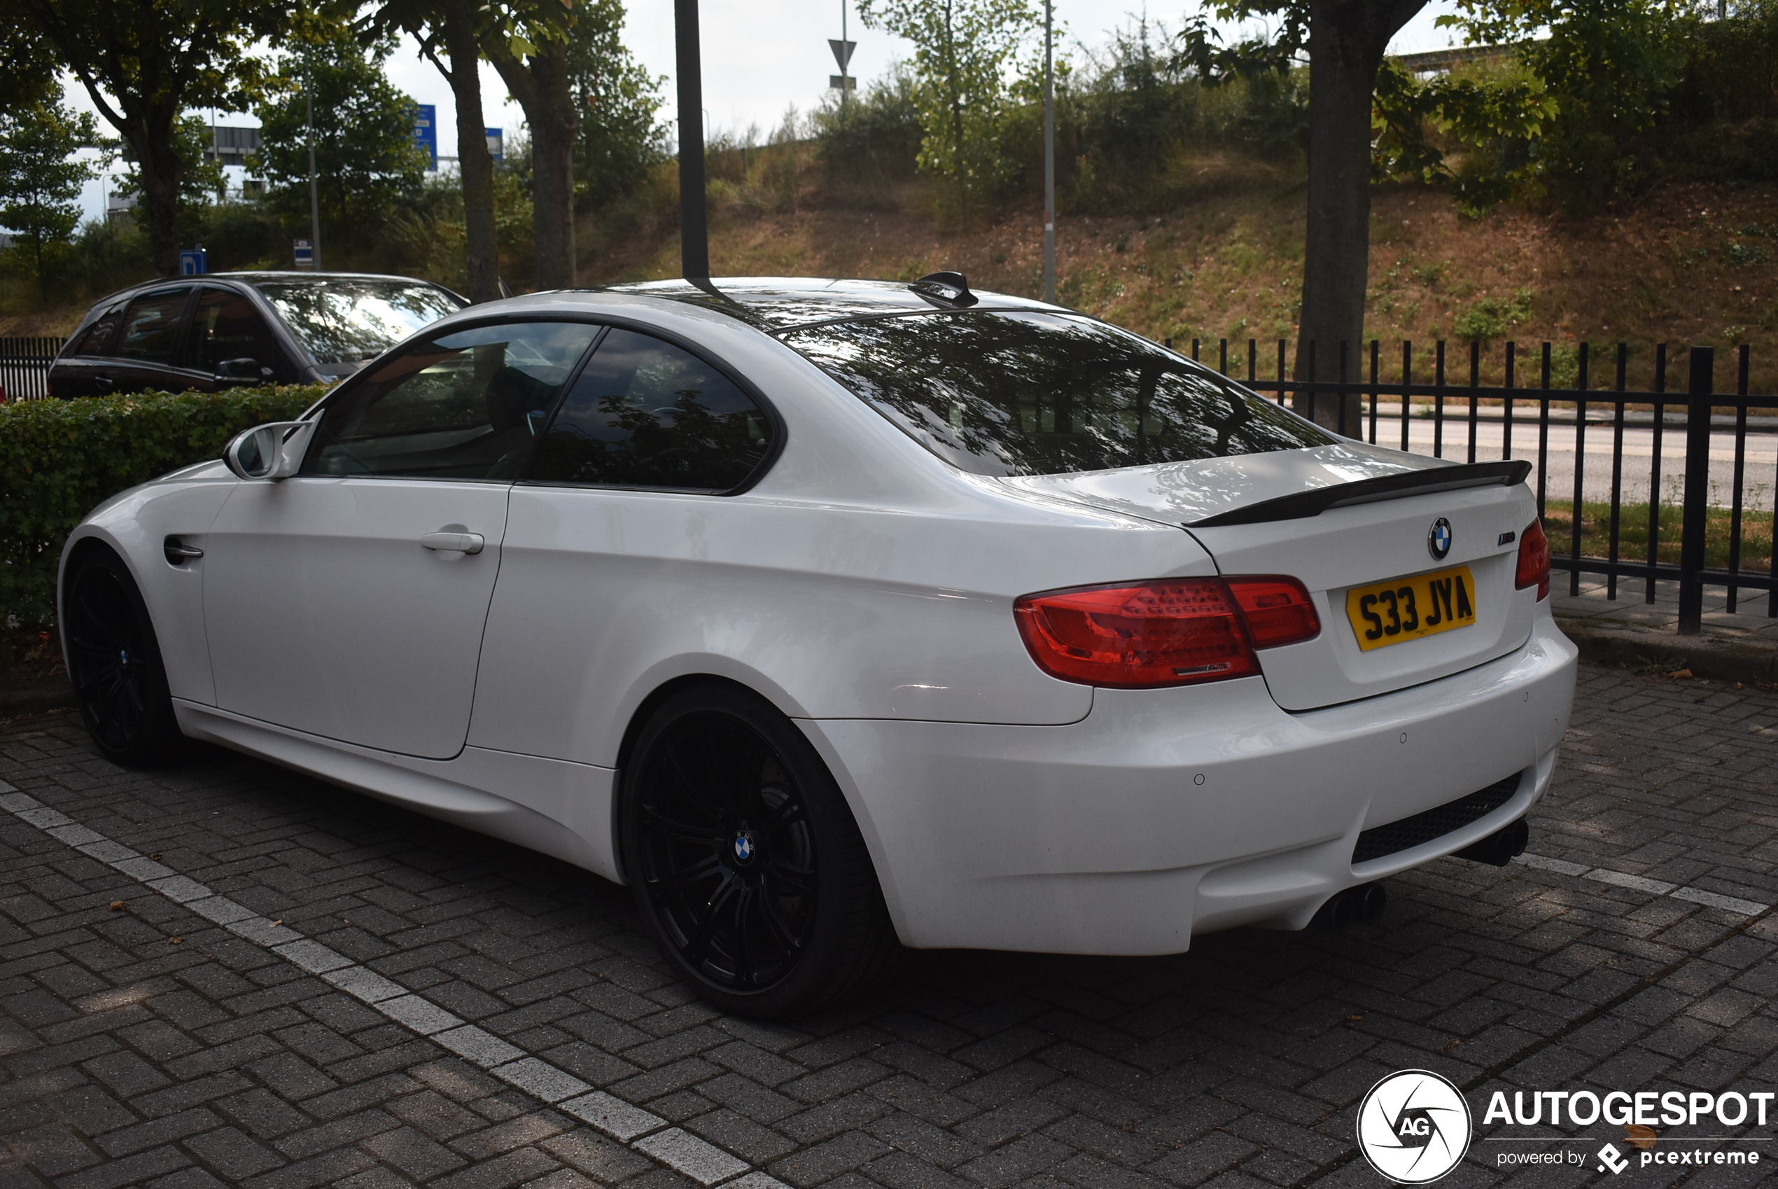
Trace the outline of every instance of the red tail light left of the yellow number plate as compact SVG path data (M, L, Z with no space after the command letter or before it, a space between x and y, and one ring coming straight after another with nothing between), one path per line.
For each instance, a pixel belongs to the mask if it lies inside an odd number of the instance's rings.
M1024 647L1051 677L1113 690L1225 681L1259 672L1255 649L1321 631L1294 578L1170 578L1026 595Z

